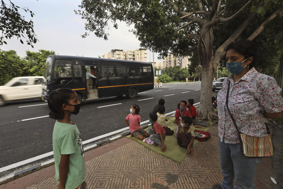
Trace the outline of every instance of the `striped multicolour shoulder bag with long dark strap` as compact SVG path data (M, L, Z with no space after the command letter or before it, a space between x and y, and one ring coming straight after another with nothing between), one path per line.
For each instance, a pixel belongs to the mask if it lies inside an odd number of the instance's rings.
M266 130L268 135L264 137L254 137L249 136L246 134L243 134L239 131L236 122L229 110L228 107L228 98L229 98L229 90L230 90L230 81L228 83L228 89L227 89L227 95L226 95L226 107L227 110L231 116L231 119L238 131L238 136L240 139L240 145L241 145L241 151L246 157L270 157L273 155L273 148L272 148L272 142L270 137L270 131L268 127L266 126Z

